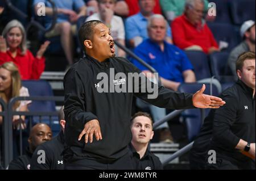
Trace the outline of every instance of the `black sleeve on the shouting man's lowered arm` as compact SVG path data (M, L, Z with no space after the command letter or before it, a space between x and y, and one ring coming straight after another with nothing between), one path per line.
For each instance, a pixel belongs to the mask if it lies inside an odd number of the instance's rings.
M65 120L75 128L84 128L85 123L98 119L92 112L85 112L85 89L80 75L70 69L64 77Z

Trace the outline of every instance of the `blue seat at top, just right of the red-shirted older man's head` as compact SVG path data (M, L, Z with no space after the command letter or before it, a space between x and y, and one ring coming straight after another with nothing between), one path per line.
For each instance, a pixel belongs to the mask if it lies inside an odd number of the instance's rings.
M229 0L211 0L209 2L214 2L216 4L216 19L215 23L232 23Z

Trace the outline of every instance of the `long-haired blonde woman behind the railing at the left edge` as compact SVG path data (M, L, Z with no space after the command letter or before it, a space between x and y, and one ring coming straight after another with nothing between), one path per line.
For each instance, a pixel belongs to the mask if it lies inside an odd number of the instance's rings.
M8 103L11 98L16 96L29 96L26 87L21 85L20 74L17 66L13 62L6 62L0 66L0 98ZM28 111L28 104L31 100L17 101L13 109L15 111ZM2 107L0 106L0 111ZM2 116L0 117L0 124L2 124ZM25 116L13 116L13 125L15 129L25 129Z

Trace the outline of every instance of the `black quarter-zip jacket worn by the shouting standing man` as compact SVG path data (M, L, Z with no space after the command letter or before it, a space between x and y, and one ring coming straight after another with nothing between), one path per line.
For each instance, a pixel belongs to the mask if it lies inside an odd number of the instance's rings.
M114 74L124 73L126 78L113 78L110 69L114 69ZM195 108L192 103L192 94L171 91L163 86L156 87L158 90L156 99L148 99L148 91L98 92L97 87L101 86L99 82L104 79L102 77L97 79L99 73L108 75L109 86L120 86L118 82L121 82L128 87L128 73L141 73L141 71L122 57L108 58L104 62L98 62L88 55L68 70L64 77L64 113L67 121L64 133L67 146L63 151L64 157L65 154L70 153L70 150L77 157L93 157L110 161L127 154L129 151L127 145L132 138L130 119L133 95L158 107ZM114 81L117 79L118 81ZM146 83L153 85L148 79L145 80L140 81L138 86L142 87ZM84 125L93 119L97 119L100 123L102 140L96 141L93 137L92 143L85 144L84 137L82 137L78 141Z

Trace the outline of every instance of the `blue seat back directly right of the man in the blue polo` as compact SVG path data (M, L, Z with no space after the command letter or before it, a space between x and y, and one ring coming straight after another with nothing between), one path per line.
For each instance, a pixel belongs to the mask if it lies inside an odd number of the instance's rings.
M211 77L207 54L201 51L185 51L194 67L196 79Z

